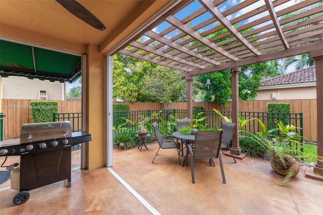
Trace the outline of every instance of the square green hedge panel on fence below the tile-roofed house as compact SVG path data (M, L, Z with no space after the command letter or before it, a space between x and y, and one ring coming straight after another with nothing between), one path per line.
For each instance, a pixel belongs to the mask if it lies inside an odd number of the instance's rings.
M268 103L268 130L276 127L277 122L282 122L285 126L289 125L289 113L291 112L290 103ZM286 113L286 114L281 114Z

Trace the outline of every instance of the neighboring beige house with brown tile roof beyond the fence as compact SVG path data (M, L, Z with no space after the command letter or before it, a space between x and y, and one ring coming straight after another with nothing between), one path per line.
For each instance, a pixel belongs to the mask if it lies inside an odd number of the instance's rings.
M315 66L263 80L255 100L315 99Z

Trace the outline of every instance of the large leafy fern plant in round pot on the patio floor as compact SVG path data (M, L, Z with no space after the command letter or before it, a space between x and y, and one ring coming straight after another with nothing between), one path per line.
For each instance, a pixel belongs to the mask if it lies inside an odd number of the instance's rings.
M264 124L261 120L257 119L261 131L253 134L247 130L244 131L242 136L250 138L261 147L263 147L270 156L271 167L273 170L285 176L281 183L274 183L275 185L284 185L292 177L296 176L300 170L301 157L304 156L303 152L295 150L302 147L299 142L302 138L298 133L291 130L297 129L294 126L284 126L282 122L279 122L278 128L266 131ZM279 131L279 135L275 136L273 133ZM306 139L306 138L305 138ZM310 141L310 140L308 140Z

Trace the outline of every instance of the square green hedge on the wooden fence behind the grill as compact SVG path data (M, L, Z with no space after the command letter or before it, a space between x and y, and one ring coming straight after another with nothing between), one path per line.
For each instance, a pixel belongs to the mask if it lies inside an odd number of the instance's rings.
M30 101L32 123L52 122L52 114L58 113L57 101Z

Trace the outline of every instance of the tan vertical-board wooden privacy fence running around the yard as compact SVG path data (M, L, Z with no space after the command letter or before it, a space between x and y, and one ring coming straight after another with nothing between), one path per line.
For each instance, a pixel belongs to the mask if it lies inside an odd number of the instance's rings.
M29 99L2 99L2 113L4 118L4 139L20 137L20 129L24 123L31 123ZM81 101L58 101L59 113L81 113ZM267 112L267 104L270 102L283 102L291 104L291 113L303 113L304 137L317 140L317 112L316 99L286 99L286 100L256 100L239 101L240 112ZM118 103L118 102L116 102ZM130 111L140 110L165 110L163 103L148 102L124 102L129 103ZM219 106L214 102L193 102L193 106L202 106L204 110L217 109L219 111L231 111L229 106ZM177 106L178 110L186 110L187 103L182 102Z

